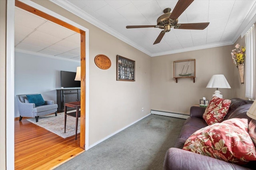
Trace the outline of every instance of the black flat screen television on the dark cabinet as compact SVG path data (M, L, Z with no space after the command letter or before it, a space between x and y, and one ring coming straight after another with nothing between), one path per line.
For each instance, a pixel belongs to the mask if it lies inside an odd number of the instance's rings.
M60 85L63 88L81 87L81 81L75 81L76 72L60 71Z

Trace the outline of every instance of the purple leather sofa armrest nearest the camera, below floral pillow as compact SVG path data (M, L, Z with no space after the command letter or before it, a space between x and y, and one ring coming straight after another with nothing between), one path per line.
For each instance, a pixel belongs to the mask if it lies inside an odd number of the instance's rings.
M179 148L167 150L164 170L249 170L246 167L189 152Z

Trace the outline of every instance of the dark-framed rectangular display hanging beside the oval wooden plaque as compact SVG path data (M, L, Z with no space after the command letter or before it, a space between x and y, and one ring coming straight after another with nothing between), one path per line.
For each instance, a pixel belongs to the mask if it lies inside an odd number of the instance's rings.
M135 81L135 61L116 55L116 81Z

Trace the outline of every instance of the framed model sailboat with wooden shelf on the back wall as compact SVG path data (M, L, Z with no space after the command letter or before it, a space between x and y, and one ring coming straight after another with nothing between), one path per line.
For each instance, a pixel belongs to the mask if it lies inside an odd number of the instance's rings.
M173 77L185 78L185 77L196 77L196 59L186 59L173 61Z

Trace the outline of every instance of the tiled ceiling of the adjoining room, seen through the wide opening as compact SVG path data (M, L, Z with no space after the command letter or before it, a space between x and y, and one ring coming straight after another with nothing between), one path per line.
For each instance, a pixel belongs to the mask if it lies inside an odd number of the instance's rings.
M80 61L80 34L15 8L15 50Z

